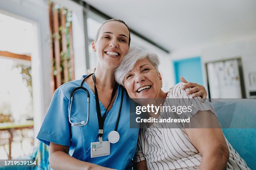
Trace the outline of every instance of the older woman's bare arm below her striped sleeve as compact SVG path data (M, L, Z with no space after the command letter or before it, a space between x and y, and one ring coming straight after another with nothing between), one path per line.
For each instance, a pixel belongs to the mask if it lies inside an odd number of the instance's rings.
M219 125L216 116L210 111L199 111L195 117L197 120L200 117L198 127L210 125L208 128L186 128L191 142L202 155L200 169L226 169L229 150L222 129L216 127Z

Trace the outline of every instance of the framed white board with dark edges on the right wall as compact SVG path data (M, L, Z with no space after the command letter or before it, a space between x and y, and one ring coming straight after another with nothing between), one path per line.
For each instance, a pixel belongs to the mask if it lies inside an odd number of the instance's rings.
M209 98L246 98L241 58L205 64Z

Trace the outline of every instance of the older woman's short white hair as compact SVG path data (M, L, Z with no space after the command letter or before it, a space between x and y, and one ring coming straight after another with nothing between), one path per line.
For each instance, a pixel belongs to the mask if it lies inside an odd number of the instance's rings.
M117 83L124 85L123 82L125 75L133 69L138 60L142 60L145 58L148 59L149 62L154 66L156 71L159 72L158 66L160 64L160 61L159 57L155 53L150 53L132 46L130 47L128 53L124 56L120 66L115 71L115 78Z

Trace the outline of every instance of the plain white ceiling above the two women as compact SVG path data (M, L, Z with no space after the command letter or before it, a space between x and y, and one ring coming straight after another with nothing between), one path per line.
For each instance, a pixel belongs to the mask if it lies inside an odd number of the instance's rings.
M168 51L256 35L255 0L83 0Z

